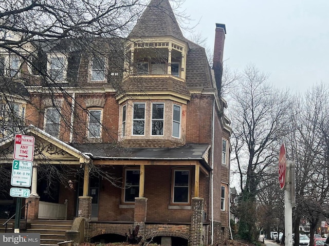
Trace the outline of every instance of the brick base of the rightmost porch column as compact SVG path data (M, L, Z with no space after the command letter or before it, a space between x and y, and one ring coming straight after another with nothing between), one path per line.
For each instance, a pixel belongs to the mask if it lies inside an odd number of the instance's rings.
M204 218L204 199L192 198L192 216L190 228L189 246L199 246L203 244L202 236L204 233L203 218Z

